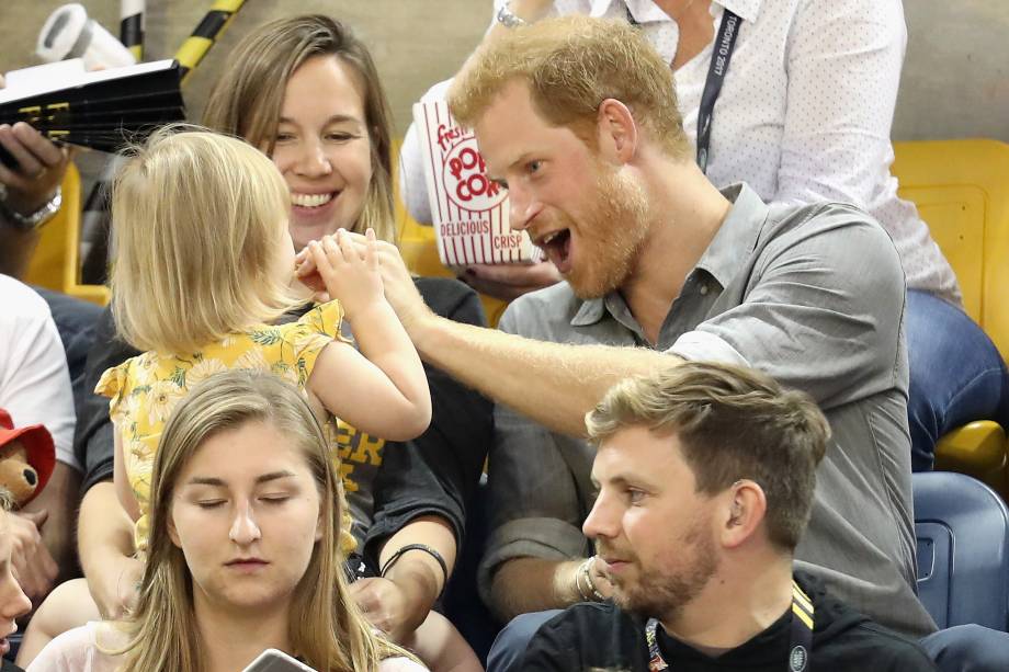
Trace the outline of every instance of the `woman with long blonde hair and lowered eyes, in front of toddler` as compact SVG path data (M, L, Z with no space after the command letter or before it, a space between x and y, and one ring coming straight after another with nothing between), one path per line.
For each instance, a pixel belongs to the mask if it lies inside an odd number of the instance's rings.
M64 633L27 669L231 672L274 648L326 672L424 670L350 596L328 445L280 377L207 378L161 436L136 608Z

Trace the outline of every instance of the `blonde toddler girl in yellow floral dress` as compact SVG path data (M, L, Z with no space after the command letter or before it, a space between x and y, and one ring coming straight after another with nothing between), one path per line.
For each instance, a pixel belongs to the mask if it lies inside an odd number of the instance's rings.
M363 257L342 231L310 243L332 300L274 323L308 298L293 284L290 204L265 155L192 127L159 130L116 178L112 310L121 338L146 352L106 371L95 391L112 399L116 493L137 521L138 550L165 422L190 387L216 372L256 368L288 379L330 432L333 415L393 441L428 426L427 378L383 295L374 234ZM360 350L340 337L344 316ZM342 546L353 548L347 529Z

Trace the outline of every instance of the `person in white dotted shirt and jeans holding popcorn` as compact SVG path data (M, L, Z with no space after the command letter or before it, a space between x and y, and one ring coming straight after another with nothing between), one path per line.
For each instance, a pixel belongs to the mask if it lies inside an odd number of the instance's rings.
M770 204L854 204L887 230L907 277L908 420L916 471L934 445L972 420L1009 426L1009 375L991 340L963 312L960 288L914 204L891 174L891 124L907 43L900 0L495 0L485 41L545 16L590 14L636 24L676 72L698 143L712 57L728 57L710 116L706 173L716 186L750 184ZM738 18L726 44L721 29ZM725 54L727 52L727 54ZM782 67L784 66L784 67ZM421 100L442 100L450 81ZM410 214L430 223L419 137L400 159ZM461 278L500 298L559 281L548 262L468 266Z

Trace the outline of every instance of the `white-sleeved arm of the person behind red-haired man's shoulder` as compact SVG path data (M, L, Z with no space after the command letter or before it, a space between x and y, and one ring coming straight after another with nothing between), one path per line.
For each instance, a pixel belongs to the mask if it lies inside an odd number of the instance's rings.
M907 43L898 0L796 10L778 192L769 201L866 207L889 179L891 125Z

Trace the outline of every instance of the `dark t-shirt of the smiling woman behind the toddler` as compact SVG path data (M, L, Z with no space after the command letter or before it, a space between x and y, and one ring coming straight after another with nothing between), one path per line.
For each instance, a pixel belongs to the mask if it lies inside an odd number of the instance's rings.
M457 322L486 326L479 296L471 287L444 277L420 277L415 282L435 314ZM287 318L294 320L302 314ZM73 448L84 468L81 492L112 479L114 457L109 399L91 390L106 368L138 354L115 337L112 312L105 309L88 355L87 394L77 409ZM437 515L445 520L462 545L465 508L476 491L492 440L494 407L440 369L426 364L424 371L431 390L431 424L417 438L386 446L383 452L382 467L373 482L373 522L365 531L363 547L359 547L366 565L360 572L363 574L377 572L382 544L418 516ZM356 566L353 569L356 573Z

